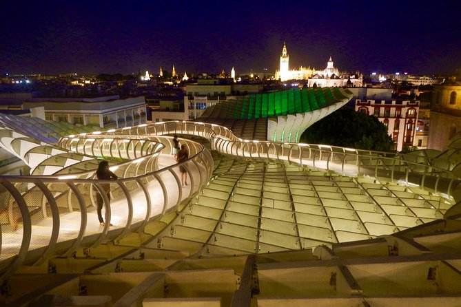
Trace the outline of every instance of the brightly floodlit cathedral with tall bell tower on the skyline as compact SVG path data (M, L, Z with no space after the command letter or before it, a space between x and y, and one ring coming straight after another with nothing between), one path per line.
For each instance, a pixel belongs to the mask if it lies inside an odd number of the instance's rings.
M280 69L276 70L276 79L280 79L282 82L308 80L309 87L361 87L363 85L362 74L339 72L338 68L334 67L331 56L325 70L316 70L315 68L303 66L299 70L289 70L289 56L285 43L283 43L282 55L280 56Z

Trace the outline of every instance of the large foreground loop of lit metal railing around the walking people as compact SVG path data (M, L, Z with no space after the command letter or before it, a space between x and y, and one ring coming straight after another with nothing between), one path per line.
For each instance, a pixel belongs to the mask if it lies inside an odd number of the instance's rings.
M187 161L172 162L158 169L160 151L171 154L171 138L157 137L152 142L152 138L133 141L114 137L109 142L107 138L91 136L80 138L79 145L74 146L78 139L62 140L61 145L77 154L88 154L85 152L88 149L95 154L97 148L105 156L110 151L112 159L122 159L111 167L119 180L95 180L94 169L79 171L79 167L84 169L81 163L63 168L53 176L2 176L0 220L4 225L0 227L0 279L10 276L23 263L40 264L48 257L72 255L82 246L97 246L140 231L147 222L176 210L183 200L196 195L212 175L211 154L192 140L181 140L189 149ZM45 158L44 162L48 160ZM184 165L189 173L189 189L181 187L178 165ZM111 201L101 193L106 221L101 227L96 218L90 221L88 215L94 215L96 191L102 192L104 183L111 184L112 204L108 205ZM119 209L114 212L111 207ZM116 226L110 227L110 223Z

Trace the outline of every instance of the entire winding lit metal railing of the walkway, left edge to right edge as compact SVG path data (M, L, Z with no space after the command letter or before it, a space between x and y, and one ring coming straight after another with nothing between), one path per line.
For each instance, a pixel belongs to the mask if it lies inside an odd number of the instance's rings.
M107 157L119 180L94 180L92 170L85 170L88 160L63 162L53 176L0 177L0 214L8 225L0 227L0 279L10 276L23 263L40 264L54 255L72 255L81 246L96 246L107 240L121 240L140 231L147 222L176 210L207 184L212 176L213 159L204 145L182 140L190 158L182 162L189 173L191 188L183 195L176 164L159 164L160 151L172 152L172 138L163 135L183 134L205 138L210 147L223 154L244 158L285 161L297 165L334 171L345 176L370 176L376 180L417 185L453 198L460 179L447 169L411 162L398 154L363 151L326 145L306 145L257 140L243 140L229 129L206 123L165 122L127 127L104 134L79 134L61 138L58 148L82 156ZM43 143L42 143L43 145ZM37 149L23 156L37 154ZM47 151L43 161L50 162ZM52 162L52 160L51 160ZM35 163L37 164L37 163ZM37 164L38 168L41 164ZM198 175L198 176L197 176ZM112 185L112 204L103 195L106 224L100 228L94 215L94 195L101 184ZM161 191L161 195L157 193ZM104 194L104 193L103 193ZM155 200L153 198L156 198ZM459 201L455 199L455 201ZM111 211L114 203L117 212ZM154 207L156 207L154 209ZM109 228L110 222L116 227ZM15 226L15 224L19 226ZM20 231L22 229L22 231ZM5 231L7 232L5 232ZM32 236L33 233L33 236Z

